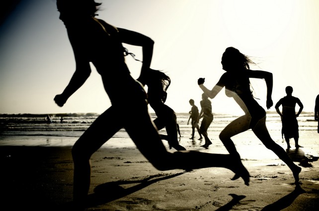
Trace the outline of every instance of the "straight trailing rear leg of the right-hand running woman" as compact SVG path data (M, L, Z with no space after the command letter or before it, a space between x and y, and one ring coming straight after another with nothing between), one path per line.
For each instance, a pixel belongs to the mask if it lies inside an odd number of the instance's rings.
M266 117L259 120L259 122L256 124L252 131L259 138L259 140L266 146L266 148L273 151L282 161L284 161L288 165L295 177L295 184L299 184L299 173L301 171L301 168L297 166L292 161L292 159L289 158L284 149L282 149L271 139L265 121Z

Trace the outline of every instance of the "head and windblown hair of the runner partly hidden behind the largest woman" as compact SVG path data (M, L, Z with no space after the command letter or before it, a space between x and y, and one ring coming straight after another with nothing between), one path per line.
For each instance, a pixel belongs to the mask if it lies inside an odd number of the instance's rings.
M146 85L148 86L149 101L160 100L165 103L170 78L160 70L150 69L147 73Z

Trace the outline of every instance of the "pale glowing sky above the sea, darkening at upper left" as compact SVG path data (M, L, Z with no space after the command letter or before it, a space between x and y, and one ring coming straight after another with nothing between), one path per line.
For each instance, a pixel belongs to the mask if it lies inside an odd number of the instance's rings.
M176 112L188 112L189 99L200 106L197 79L205 77L205 85L213 88L224 73L221 56L231 46L252 56L258 66L251 69L273 73L274 104L286 95L285 87L292 86L304 111L314 111L319 94L318 0L97 1L103 3L97 18L155 41L151 68L170 76L166 104ZM140 47L125 47L142 59ZM126 58L137 78L141 63ZM56 1L21 0L0 26L0 113L101 113L107 109L110 102L94 68L64 107L54 103L74 70L73 51ZM253 79L251 84L265 108L265 82ZM224 90L211 101L214 113L242 112ZM275 111L274 106L269 110Z

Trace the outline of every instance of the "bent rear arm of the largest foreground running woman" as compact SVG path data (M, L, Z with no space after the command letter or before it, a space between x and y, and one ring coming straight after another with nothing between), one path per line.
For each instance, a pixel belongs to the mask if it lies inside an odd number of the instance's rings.
M153 57L154 41L138 32L130 31L127 29L118 28L120 39L122 43L126 43L133 46L141 46L143 51L143 65L141 74L138 80L145 85L145 77L147 71L150 69L151 61Z

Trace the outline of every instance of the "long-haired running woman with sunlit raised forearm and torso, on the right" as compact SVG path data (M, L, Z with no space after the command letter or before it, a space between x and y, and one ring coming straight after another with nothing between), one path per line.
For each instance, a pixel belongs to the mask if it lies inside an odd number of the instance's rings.
M219 137L231 155L240 158L232 137L251 129L259 140L281 160L283 160L293 172L295 184L299 185L299 173L301 168L297 166L287 155L285 150L276 144L270 137L266 127L266 111L259 106L250 90L249 78L264 79L267 86L267 102L269 109L272 105L272 73L260 70L250 70L249 64L254 64L250 58L239 50L229 47L223 53L222 66L226 71L212 90L204 86L205 78L199 78L197 83L202 91L211 99L225 87L225 94L234 98L236 103L244 111L244 115L232 121L220 133Z

